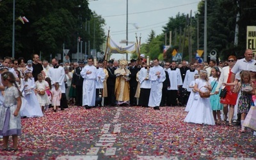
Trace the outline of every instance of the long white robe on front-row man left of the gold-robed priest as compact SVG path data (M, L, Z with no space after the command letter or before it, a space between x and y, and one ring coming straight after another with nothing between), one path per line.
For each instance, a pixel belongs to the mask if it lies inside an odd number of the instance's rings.
M86 72L92 72L86 74ZM86 65L80 75L83 77L83 106L95 106L97 68L93 65Z

